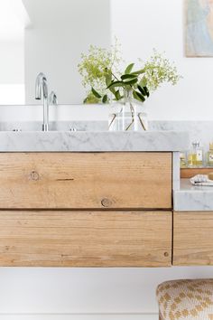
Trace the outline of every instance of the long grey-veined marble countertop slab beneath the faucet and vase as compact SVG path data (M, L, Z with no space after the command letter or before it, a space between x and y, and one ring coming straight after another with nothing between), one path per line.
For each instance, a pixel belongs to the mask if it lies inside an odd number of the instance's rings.
M181 151L189 135L180 131L2 131L0 152Z

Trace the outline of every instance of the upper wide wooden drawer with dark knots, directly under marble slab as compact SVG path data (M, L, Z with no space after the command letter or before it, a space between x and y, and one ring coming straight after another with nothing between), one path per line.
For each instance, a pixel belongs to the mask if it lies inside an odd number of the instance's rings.
M171 153L1 153L1 209L169 209Z

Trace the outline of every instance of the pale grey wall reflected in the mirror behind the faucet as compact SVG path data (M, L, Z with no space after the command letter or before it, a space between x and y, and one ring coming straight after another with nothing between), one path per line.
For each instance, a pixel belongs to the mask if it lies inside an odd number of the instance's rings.
M41 0L38 0L41 2ZM59 103L81 103L85 98L78 64L90 44L109 47L111 40L109 0L24 0L32 20L25 30L26 103L36 104L34 82L39 72Z

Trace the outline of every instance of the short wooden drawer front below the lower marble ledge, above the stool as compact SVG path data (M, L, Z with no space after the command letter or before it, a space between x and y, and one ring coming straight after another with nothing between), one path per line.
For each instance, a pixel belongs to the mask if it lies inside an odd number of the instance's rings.
M213 265L213 212L174 212L173 265Z

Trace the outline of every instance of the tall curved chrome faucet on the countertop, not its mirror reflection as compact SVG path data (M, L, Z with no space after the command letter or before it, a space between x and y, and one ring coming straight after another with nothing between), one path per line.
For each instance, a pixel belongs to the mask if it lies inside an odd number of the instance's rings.
M38 74L35 81L35 99L43 99L43 124L42 131L48 131L49 127L49 101L48 101L48 86L47 78L41 72Z

